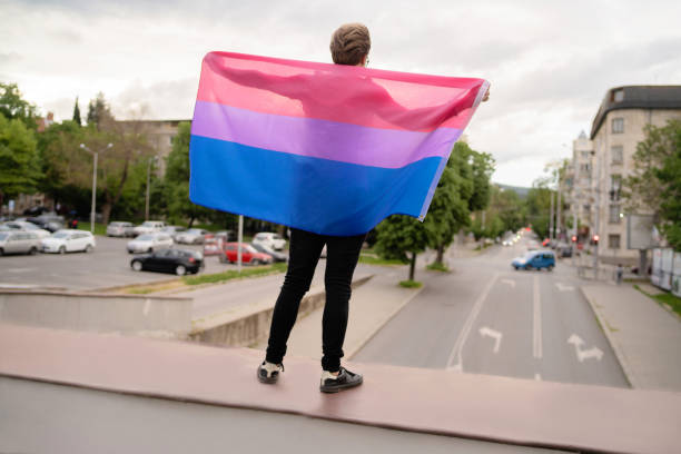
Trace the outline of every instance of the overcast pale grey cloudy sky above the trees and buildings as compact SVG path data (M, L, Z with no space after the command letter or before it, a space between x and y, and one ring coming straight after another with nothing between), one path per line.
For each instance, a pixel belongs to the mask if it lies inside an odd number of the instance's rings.
M490 80L468 141L519 186L571 155L609 88L681 83L678 0L0 0L0 80L58 120L98 91L117 118L188 119L206 52L330 62L330 33L364 22L372 68Z

